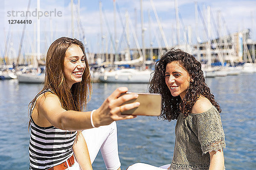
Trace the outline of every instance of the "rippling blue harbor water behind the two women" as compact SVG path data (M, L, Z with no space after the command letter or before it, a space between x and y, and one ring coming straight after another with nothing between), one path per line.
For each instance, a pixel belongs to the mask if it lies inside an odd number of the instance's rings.
M221 105L221 120L227 147L227 170L254 170L256 167L256 74L240 74L207 79L207 84ZM146 92L146 84L94 83L93 97L87 109L98 108L117 87ZM28 170L28 103L42 85L19 84L17 80L0 81L0 170ZM175 121L138 116L118 121L119 157L122 170L135 162L155 166L172 161ZM99 152L93 169L104 170Z

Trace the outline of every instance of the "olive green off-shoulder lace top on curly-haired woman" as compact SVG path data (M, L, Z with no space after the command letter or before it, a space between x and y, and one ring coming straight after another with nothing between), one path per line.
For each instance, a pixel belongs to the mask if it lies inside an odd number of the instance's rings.
M209 152L226 147L218 110L180 114L175 127L175 147L171 170L208 170ZM224 168L225 169L225 168Z

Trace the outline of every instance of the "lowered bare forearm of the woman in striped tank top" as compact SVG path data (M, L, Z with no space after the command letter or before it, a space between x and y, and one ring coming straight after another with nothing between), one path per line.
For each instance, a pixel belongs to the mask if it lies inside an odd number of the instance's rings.
M76 136L73 151L82 170L93 170L87 145L81 132Z

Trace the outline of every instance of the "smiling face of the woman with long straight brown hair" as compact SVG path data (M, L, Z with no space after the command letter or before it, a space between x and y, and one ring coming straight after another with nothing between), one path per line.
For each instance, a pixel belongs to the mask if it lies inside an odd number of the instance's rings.
M65 53L64 75L70 88L74 83L82 81L86 66L84 58L84 53L78 45L71 45Z

